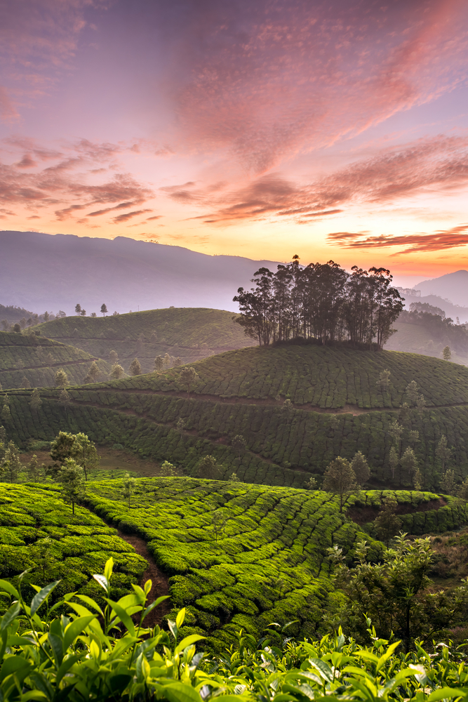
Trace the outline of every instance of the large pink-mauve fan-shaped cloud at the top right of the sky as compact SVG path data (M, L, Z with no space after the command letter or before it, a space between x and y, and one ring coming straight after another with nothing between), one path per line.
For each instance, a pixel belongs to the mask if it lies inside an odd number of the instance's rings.
M467 5L207 4L180 41L183 134L252 173L433 100L467 75Z

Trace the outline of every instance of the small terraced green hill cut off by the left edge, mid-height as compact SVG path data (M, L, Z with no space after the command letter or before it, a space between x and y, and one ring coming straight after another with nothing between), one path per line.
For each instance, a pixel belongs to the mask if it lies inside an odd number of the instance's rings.
M67 373L70 384L83 383L93 361L101 377L107 378L111 366L102 359L42 336L0 331L0 383L4 390L51 387L58 369ZM26 384L27 384L26 383Z

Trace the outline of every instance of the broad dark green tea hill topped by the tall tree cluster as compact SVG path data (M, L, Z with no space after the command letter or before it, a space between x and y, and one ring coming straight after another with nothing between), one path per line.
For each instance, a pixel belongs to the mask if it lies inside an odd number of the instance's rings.
M436 447L442 435L453 447L450 463L457 478L466 475L464 366L391 351L284 345L225 352L194 368L199 381L192 388L182 383L180 368L70 388L66 410L57 392L44 390L37 414L29 407L29 392L17 390L11 393L6 430L22 445L31 438L50 440L60 429L83 431L96 442L118 442L194 475L200 458L210 454L222 477L235 471L245 482L298 487L311 474L320 479L336 456L352 458L362 451L374 485L406 486L412 476L400 465L392 477L389 463L390 425L399 420L399 454L414 449L426 489L439 485ZM380 385L384 369L390 371L388 389ZM426 406L402 414L412 380ZM246 441L240 453L231 446L236 435Z

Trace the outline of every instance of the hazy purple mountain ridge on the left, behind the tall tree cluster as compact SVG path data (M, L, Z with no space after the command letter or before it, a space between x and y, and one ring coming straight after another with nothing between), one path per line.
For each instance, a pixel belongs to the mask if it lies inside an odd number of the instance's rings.
M0 232L0 300L36 312L88 314L157 307L215 307L237 310L239 286L274 261L207 256L181 246L126 237L93 239L70 234Z

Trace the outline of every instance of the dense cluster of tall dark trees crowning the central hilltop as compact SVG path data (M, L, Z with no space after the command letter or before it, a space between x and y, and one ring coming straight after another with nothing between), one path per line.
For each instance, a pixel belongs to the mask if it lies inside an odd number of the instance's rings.
M238 289L234 302L241 315L236 321L260 346L304 338L382 348L403 309L392 279L385 268L353 266L349 274L331 260L303 267L293 256L276 273L268 268L255 272L250 291Z

